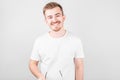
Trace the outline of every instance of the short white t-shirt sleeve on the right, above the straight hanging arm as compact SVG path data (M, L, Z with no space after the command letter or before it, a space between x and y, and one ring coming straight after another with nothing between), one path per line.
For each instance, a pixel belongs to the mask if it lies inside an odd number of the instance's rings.
M81 40L79 40L77 43L75 58L84 58L84 51Z

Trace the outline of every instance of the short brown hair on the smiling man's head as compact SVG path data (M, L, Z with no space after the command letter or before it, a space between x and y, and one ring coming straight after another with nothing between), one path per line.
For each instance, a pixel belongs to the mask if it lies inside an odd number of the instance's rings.
M45 15L45 11L46 11L47 9L53 9L53 8L55 8L55 7L59 7L60 10L62 11L62 15L64 15L62 6L61 6L60 4L58 4L57 2L49 2L49 3L47 3L47 4L44 6L44 8L43 8L43 14Z

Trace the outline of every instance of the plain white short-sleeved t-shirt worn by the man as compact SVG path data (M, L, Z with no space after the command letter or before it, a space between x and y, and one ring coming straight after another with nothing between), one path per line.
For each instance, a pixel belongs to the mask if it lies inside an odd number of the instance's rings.
M66 31L60 38L46 33L34 43L31 59L40 62L46 80L75 80L74 58L84 58L81 40Z

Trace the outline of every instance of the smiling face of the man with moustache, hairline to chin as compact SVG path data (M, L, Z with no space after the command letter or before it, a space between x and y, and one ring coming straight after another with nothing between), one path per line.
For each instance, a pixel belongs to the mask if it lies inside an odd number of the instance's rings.
M45 11L45 21L52 31L59 31L63 27L65 16L59 7L48 9Z

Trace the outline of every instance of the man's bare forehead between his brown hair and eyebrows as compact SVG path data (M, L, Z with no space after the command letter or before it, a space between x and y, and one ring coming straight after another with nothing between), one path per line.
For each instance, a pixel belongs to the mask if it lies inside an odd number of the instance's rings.
M61 11L61 9L60 9L59 7L55 7L55 8L52 8L52 9L47 9L47 10L45 11L45 15L46 15L46 16L55 15L55 14L57 14L57 13L62 14L62 11Z

